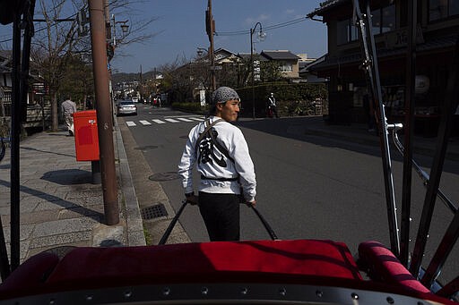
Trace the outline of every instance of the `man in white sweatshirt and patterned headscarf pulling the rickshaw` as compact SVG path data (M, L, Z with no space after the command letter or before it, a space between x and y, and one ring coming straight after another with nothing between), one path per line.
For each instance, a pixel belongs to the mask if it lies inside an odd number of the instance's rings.
M238 118L239 104L234 89L216 89L211 115L190 131L178 165L186 200L199 205L211 241L238 241L239 203L256 203L255 169L247 142L230 123ZM192 176L195 163L201 174L197 198Z

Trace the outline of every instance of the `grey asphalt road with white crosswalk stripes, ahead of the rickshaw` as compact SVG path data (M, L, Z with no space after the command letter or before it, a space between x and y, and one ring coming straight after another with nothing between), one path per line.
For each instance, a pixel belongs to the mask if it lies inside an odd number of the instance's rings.
M171 179L160 185L173 208L178 210L183 195L173 173L177 170L186 134L199 118L141 106L139 115L124 120L134 136L137 150L142 151L152 172L167 177L170 174ZM306 124L306 117L238 123L255 163L259 210L281 239L344 241L353 253L360 241L377 240L388 245L379 148L307 135L304 132ZM425 157L419 162L429 165ZM459 198L458 166L447 163L446 168L442 188L452 198ZM402 164L395 160L394 184L399 200L401 176ZM412 190L413 225L416 226L425 191L418 182L413 183ZM438 240L445 230L444 220L452 217L446 208L438 207L433 220L437 225L430 233L432 241ZM243 239L269 238L250 210L243 208L241 217ZM192 241L207 241L196 208L186 209L181 224ZM411 235L414 239L414 233ZM457 252L456 247L451 257L457 258ZM432 254L429 247L427 256ZM457 259L451 260L455 270L459 270Z

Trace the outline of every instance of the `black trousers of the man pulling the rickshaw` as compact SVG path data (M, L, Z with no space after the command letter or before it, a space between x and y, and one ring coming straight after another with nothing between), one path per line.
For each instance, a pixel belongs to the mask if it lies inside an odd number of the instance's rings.
M211 241L239 240L238 195L200 191L199 211Z

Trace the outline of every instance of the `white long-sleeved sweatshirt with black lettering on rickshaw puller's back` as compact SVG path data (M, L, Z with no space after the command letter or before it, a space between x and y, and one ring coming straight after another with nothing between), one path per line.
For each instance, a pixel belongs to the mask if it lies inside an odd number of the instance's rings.
M211 116L211 123L220 119ZM193 167L197 161L197 171L207 178L235 178L238 181L216 181L201 179L198 191L208 193L231 193L240 194L240 186L244 191L244 198L247 201L255 199L255 169L252 158L248 153L247 142L242 131L231 123L221 121L212 126L211 132L216 131L216 140L227 148L230 157L234 162L225 157L218 148L209 143L205 138L201 141L200 147L195 149L196 141L205 129L205 122L197 124L189 133L186 146L183 151L178 174L182 178L183 187L186 193L193 192ZM206 145L207 144L207 145ZM204 147L204 148L203 148ZM211 148L212 149L205 149ZM220 165L219 165L220 164ZM239 184L240 183L240 184Z

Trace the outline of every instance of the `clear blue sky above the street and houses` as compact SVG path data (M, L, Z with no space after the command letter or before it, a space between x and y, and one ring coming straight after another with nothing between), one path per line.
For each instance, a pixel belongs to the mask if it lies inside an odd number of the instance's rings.
M226 48L234 53L250 53L249 30L256 22L263 28L305 17L323 0L212 0L215 30L214 48ZM130 13L116 13L117 20L135 22L148 17L157 18L146 32L154 37L142 44L117 48L111 62L119 72L151 71L162 64L170 64L195 57L196 48L209 47L205 32L204 13L207 0L150 0L135 4ZM127 14L129 16L127 16ZM256 28L258 30L259 27ZM247 31L242 35L223 35L224 32ZM120 32L120 30L117 30ZM317 58L326 50L326 26L320 21L305 20L273 30L266 30L266 38L255 43L255 50L290 50ZM254 35L254 41L256 35Z

